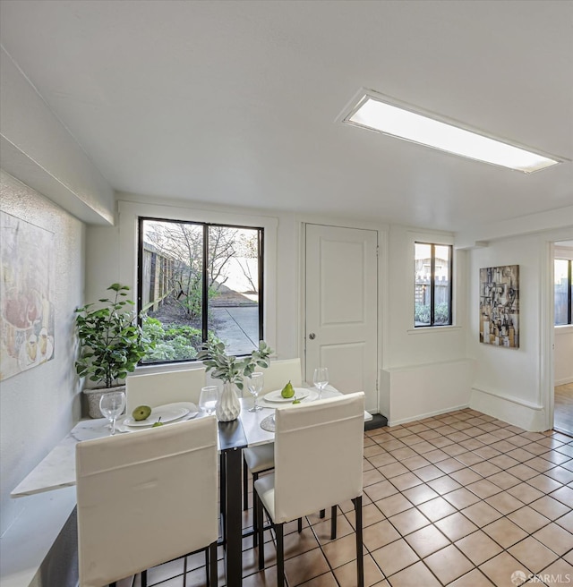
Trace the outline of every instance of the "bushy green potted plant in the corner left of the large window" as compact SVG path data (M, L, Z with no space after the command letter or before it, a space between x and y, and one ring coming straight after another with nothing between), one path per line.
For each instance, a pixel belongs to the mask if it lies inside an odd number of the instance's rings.
M89 377L90 381L100 384L83 390L88 396L91 418L101 417L101 395L121 389L119 380L132 373L153 347L136 322L134 302L126 299L129 287L112 284L107 290L115 292L113 299L103 298L75 310L81 345L76 371L80 377Z

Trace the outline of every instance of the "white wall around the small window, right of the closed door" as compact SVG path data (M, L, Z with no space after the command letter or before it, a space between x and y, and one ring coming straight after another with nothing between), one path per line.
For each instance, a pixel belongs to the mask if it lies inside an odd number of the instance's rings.
M381 411L390 425L469 404L473 364L466 356L466 251L454 254L454 325L414 328L415 242L453 244L453 235L403 226L389 232Z

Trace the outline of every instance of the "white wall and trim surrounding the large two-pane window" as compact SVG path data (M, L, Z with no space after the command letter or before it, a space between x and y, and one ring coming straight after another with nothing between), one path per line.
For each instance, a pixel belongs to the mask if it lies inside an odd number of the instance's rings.
M196 202L149 200L119 194L119 221L114 227L90 226L87 234L86 294L98 299L107 285L121 282L136 295L137 216L189 219L265 227L265 339L279 359L298 356L298 236L295 214L264 209L223 208ZM277 309L280 309L279 311ZM150 368L141 368L146 370Z

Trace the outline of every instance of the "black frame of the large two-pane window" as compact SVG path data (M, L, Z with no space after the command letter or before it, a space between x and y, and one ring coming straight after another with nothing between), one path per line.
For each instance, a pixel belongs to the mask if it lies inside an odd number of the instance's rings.
M265 273L264 273L264 243L265 243L265 227L264 226L255 226L255 225L238 225L232 224L227 222L208 222L204 220L192 220L192 219L175 219L173 217L166 218L166 217L155 217L149 215L138 215L136 217L137 228L137 251L135 253L135 265L136 265L136 303L137 303L137 312L138 312L138 324L141 326L142 318L141 318L141 310L143 307L143 242L144 242L144 234L143 234L143 223L145 221L155 221L155 222L166 222L171 224L184 224L184 225L200 225L202 226L202 237L203 237L203 258L202 258L202 276L201 276L201 285L202 285L202 300L201 300L201 340L203 343L207 342L209 328L208 328L208 314L209 314L209 279L208 279L208 262L209 259L209 228L210 226L218 226L218 227L225 227L225 228L237 228L237 229L245 229L245 230L254 230L257 231L258 234L258 256L257 256L257 277L258 277L258 286L259 286L259 302L258 302L258 314L259 314L259 340L264 340L264 306L265 306ZM247 356L249 353L245 352L243 354L237 354L237 356ZM197 359L176 359L174 361L145 361L139 362L140 366L153 366L153 365L169 365L175 363L189 363L189 362L200 362Z

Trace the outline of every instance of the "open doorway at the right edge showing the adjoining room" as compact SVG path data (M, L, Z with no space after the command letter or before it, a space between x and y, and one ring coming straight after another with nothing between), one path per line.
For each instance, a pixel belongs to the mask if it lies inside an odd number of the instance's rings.
M553 257L553 429L573 436L573 241L555 242Z

